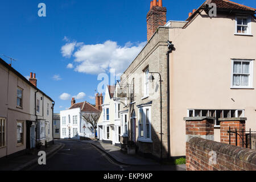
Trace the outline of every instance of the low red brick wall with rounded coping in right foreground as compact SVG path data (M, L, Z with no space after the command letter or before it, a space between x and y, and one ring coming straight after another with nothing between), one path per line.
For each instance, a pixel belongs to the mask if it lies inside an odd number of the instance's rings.
M187 171L256 171L255 150L199 137L191 138L186 150Z

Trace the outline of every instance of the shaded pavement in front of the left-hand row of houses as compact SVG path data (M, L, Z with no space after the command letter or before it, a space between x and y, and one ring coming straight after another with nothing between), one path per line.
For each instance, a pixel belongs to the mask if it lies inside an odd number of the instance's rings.
M49 157L55 154L56 151L64 147L63 143L55 142L55 144L49 145L47 148L44 146L40 150L32 150L30 154L23 154L11 158L0 159L0 171L21 171L34 164L38 163L38 152L45 151L46 156Z

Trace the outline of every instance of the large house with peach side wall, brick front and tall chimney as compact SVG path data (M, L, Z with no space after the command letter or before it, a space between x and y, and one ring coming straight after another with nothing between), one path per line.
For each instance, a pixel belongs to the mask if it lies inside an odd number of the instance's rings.
M167 22L162 1L152 1L148 42L116 86L114 101L142 154L184 156L184 117L216 118L216 141L220 118L246 117L246 130L256 130L255 9L202 3L186 20Z

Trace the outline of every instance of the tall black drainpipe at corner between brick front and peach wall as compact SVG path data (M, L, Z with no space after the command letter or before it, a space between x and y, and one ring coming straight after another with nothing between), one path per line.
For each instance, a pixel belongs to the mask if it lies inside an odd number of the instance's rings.
M170 63L169 54L172 52L172 49L174 49L174 45L172 42L168 43L168 51L166 53L167 55L167 143L168 143L168 157L171 157L171 142L170 142Z

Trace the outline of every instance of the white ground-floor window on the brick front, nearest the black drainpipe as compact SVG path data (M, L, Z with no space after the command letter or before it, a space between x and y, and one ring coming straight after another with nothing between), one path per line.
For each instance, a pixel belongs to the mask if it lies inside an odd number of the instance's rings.
M151 140L151 107L139 108L139 139Z

